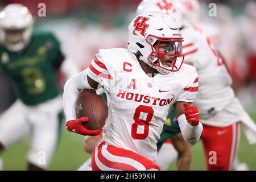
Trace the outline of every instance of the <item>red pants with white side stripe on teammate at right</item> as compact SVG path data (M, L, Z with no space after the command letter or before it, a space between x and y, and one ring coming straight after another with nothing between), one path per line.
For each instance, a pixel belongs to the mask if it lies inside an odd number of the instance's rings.
M201 140L208 171L228 171L230 169L238 148L239 126L240 123L226 127L204 125Z

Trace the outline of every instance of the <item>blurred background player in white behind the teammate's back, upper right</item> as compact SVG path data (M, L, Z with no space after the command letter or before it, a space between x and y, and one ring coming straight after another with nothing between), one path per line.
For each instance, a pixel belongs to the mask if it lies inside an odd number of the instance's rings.
M217 28L217 36L209 37L208 30L204 30L209 39L213 38L213 46L220 53L225 66L232 77L232 88L237 94L245 86L246 56L243 53L245 47L242 47L242 36L240 30L237 30L237 21L234 20L232 9L228 5L217 5L217 16L212 18L212 24ZM196 13L196 12L195 12ZM195 24L196 25L196 24ZM243 29L243 28L241 28ZM234 31L236 30L236 31ZM230 44L232 43L232 44Z

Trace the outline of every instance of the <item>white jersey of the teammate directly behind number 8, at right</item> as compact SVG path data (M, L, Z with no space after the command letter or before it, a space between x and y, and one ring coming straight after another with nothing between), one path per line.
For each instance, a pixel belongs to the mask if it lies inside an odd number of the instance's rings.
M184 38L184 63L192 63L199 75L199 92L193 104L199 108L200 122L215 126L216 121L209 120L211 116L223 110L235 97L230 86L232 78L203 30L191 26L180 32ZM229 122L236 121L230 118ZM222 123L223 126L229 124Z

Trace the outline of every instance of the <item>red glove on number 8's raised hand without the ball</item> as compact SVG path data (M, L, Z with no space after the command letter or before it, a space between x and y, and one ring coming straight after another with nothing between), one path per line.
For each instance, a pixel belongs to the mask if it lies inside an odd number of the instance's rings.
M199 125L199 110L196 106L189 105L188 103L183 104L185 109L185 116L188 123L191 126Z

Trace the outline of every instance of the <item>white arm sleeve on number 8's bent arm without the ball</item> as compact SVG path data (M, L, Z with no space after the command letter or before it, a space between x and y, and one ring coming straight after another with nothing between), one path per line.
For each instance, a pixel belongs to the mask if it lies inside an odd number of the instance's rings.
M177 121L179 122L180 131L185 141L190 144L195 144L199 141L203 132L203 125L199 122L197 126L191 126L185 117L185 114L181 114Z

